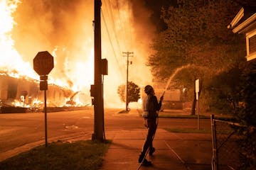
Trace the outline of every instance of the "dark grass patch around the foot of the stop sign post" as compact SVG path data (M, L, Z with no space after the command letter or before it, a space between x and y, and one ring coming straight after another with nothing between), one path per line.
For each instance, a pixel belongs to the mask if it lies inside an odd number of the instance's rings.
M41 145L0 162L1 170L96 170L102 166L110 141L53 142Z

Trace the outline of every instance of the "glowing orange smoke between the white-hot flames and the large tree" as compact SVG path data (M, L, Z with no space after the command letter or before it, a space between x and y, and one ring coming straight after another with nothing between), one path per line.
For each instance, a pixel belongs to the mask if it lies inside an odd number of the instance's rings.
M155 28L150 16L143 1L102 0L102 58L108 60L109 73L104 80L105 106L124 106L117 94L117 87L126 82L127 57L122 52L134 52L129 57L129 81L139 86L151 83L146 58ZM25 62L33 65L37 52L48 50L55 58L49 78L90 95L94 83L93 1L21 1L14 20L14 45Z

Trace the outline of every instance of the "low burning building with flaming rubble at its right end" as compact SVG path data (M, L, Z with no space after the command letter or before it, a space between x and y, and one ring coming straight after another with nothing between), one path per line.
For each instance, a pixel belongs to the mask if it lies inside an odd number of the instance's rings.
M48 84L46 93L49 107L85 106L89 104L85 103L85 95L79 95L80 91L74 93L70 89L55 84ZM1 113L37 111L43 108L43 100L44 93L39 90L39 81L28 77L11 77L9 74L1 72Z

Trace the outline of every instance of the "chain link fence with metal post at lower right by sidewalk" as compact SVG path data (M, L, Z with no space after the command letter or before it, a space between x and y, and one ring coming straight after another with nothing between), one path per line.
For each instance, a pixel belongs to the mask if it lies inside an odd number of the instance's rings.
M213 159L212 170L238 169L242 164L240 146L242 137L236 132L238 123L217 120L211 116Z

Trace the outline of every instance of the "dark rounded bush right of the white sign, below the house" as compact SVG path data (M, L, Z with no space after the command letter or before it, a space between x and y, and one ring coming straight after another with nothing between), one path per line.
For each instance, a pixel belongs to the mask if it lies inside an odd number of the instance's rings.
M209 111L234 113L242 100L242 80L242 69L233 68L207 81L202 98L207 102Z

